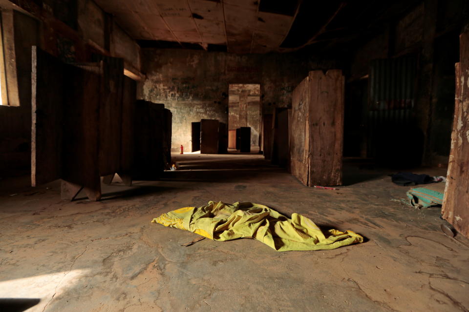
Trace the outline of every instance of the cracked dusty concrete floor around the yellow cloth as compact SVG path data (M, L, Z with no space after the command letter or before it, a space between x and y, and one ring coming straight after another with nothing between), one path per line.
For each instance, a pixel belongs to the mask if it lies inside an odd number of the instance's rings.
M180 170L163 180L114 182L100 202L62 201L58 182L0 180L0 297L58 312L469 310L469 241L440 231L438 208L409 207L390 171L348 165L346 186L324 191L260 155L174 160ZM366 240L316 252L278 253L252 239L183 247L197 235L150 223L209 200L298 212Z

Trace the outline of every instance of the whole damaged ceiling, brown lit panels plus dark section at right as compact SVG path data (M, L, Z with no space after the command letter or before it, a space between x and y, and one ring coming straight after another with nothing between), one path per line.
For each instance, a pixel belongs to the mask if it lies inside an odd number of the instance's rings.
M343 42L403 14L408 1L96 0L142 47L231 53L298 50ZM384 21L385 22L385 21Z

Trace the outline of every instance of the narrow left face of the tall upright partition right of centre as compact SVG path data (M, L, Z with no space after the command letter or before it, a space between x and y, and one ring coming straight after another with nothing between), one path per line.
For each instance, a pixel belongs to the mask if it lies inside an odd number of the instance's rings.
M309 179L309 78L293 90L290 134L290 167L293 176L304 185Z

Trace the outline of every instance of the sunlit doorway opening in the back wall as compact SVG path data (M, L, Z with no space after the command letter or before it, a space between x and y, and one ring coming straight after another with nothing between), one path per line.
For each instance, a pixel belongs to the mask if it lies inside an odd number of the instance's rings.
M251 129L251 152L259 151L261 130L260 84L230 84L228 88L228 148L239 149L236 144L236 129ZM239 133L239 130L238 130ZM236 146L238 145L238 146Z

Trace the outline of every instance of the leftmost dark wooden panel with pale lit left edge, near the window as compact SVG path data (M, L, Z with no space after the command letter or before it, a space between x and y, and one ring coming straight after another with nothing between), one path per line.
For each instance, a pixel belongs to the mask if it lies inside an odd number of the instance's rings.
M62 174L64 64L32 47L31 185L51 182Z

